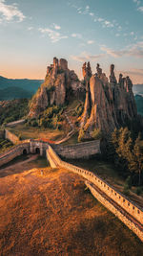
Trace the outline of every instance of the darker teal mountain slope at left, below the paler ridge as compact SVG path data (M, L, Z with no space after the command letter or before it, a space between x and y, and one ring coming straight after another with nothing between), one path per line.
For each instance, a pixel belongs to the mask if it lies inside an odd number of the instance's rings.
M19 87L7 87L0 90L0 101L7 101L13 99L30 99L32 92Z

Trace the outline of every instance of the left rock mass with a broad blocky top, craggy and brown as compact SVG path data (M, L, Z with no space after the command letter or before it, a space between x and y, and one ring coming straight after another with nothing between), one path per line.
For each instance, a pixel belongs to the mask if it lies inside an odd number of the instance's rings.
M64 105L70 94L76 96L82 87L77 75L68 68L68 61L53 58L53 63L47 67L44 83L31 99L29 117L37 117L50 105Z

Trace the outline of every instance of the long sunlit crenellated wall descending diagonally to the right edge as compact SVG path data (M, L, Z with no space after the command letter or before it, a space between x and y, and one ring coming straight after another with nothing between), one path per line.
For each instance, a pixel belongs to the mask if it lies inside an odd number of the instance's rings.
M102 180L98 175L94 175L92 172L62 161L59 156L51 149L51 146L49 147L48 153L49 158L52 161L54 159L54 164L56 164L56 166L68 169L75 174L82 175L95 186L97 186L101 191L103 191L108 197L112 198L112 200L114 200L119 206L125 209L131 216L133 216L135 220L143 224L143 209L132 202L129 198L126 198L121 193L116 191L111 185Z

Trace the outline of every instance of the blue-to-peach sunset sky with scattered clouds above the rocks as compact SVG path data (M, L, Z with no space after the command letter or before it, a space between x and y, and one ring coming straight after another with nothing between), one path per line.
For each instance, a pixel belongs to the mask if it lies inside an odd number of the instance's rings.
M143 83L143 0L0 0L0 76L44 79L53 57Z

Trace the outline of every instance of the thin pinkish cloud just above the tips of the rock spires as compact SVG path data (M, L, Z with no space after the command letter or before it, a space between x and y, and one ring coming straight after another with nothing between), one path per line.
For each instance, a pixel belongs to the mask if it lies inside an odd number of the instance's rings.
M80 56L71 56L72 59L80 62L89 61L89 60L93 61L103 57L105 57L105 54L92 55L87 52L83 52Z

